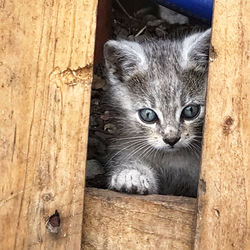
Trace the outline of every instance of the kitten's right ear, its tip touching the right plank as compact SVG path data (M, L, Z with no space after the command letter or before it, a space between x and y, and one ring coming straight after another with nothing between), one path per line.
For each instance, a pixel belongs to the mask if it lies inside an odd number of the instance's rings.
M205 71L208 67L211 29L186 37L182 42L183 69Z

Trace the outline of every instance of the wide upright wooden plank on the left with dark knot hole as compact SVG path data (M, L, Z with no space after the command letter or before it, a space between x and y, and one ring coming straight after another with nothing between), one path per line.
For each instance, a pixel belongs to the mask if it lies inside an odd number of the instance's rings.
M0 1L1 249L81 247L96 5Z

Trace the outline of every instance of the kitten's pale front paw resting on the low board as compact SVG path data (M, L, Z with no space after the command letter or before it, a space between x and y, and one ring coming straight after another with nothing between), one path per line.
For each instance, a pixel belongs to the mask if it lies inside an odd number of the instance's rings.
M125 169L114 174L111 177L110 189L132 194L157 193L154 178L143 175L136 169Z

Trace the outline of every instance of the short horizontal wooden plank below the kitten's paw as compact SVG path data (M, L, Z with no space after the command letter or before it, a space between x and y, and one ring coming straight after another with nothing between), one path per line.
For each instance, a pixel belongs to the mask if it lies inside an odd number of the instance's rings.
M83 249L192 249L196 199L87 188Z

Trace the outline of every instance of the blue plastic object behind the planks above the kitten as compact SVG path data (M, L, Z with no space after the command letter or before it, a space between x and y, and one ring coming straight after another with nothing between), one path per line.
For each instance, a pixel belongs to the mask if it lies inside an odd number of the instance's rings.
M154 0L154 2L206 23L212 22L213 0Z

